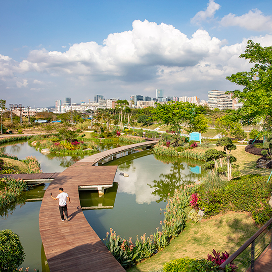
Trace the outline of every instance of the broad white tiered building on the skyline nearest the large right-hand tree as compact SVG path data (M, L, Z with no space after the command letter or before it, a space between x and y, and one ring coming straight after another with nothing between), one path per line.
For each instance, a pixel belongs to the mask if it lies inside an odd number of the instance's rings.
M231 109L232 99L225 91L212 90L208 91L208 106L210 109L218 108L220 110Z

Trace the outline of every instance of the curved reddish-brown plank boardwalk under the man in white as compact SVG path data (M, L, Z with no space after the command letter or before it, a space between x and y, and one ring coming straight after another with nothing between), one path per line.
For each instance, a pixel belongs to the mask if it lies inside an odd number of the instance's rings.
M134 148L145 148L157 141L149 141L110 149L87 157L60 173L45 191L40 209L40 233L50 272L124 272L104 243L87 222L79 200L79 185L110 185L117 166L94 166L104 158ZM71 198L69 221L60 221L58 188L63 187Z

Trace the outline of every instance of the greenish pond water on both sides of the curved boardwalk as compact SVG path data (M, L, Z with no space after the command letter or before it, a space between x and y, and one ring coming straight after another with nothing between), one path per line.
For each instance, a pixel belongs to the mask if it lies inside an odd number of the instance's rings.
M115 146L100 145L101 150ZM58 157L42 155L27 142L0 147L5 153L17 155L19 159L36 156L44 173L62 172L64 169L84 158L84 156ZM114 186L105 191L102 197L97 191L80 191L84 215L98 236L103 239L113 228L122 237L136 239L155 232L163 220L163 211L168 194L173 194L181 184L197 181L202 174L201 162L156 156L152 149L135 152L131 155L108 162L105 165L118 165ZM120 176L126 173L129 177ZM0 217L0 229L11 229L20 236L26 259L21 267L29 271L46 271L45 256L39 232L39 210L41 201L24 199L42 198L47 184L36 186L23 195L21 204L14 204L6 216ZM65 190L65 187L64 187ZM68 192L69 193L69 192ZM19 201L20 202L20 201ZM68 207L69 212L69 207ZM56 213L58 211L56 210Z

